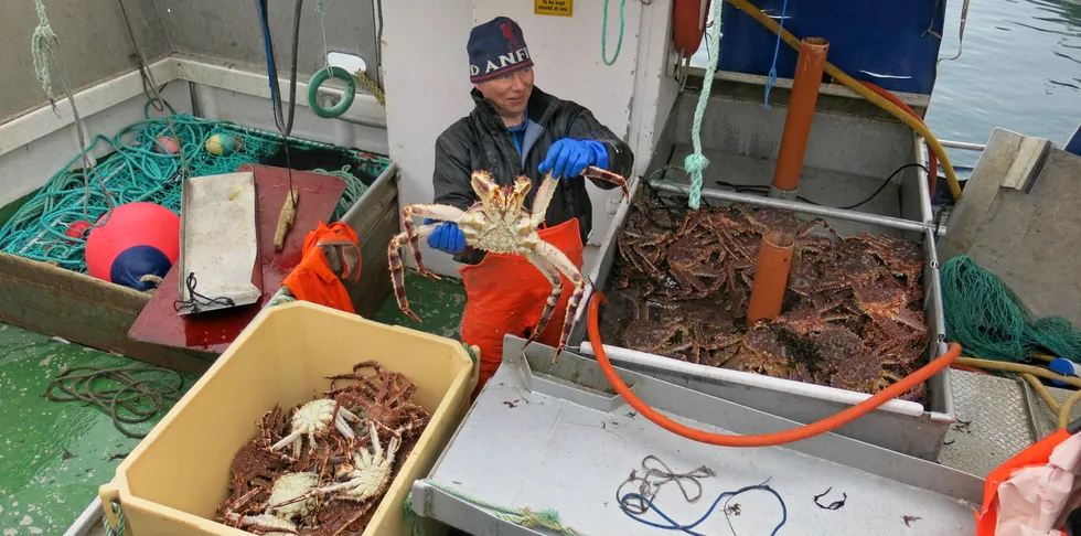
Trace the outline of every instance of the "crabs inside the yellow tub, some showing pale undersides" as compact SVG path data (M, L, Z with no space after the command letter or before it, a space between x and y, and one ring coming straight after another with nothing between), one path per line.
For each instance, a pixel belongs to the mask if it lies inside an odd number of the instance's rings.
M233 459L220 522L272 536L364 529L431 416L411 401L416 385L378 363L328 378L322 397L263 416Z

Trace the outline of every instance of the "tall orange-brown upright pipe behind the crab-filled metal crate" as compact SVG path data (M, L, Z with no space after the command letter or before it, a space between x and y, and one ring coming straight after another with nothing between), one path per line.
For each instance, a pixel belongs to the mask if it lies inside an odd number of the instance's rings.
M781 148L773 169L770 197L794 200L800 190L803 154L811 136L811 120L814 119L814 107L818 101L822 68L828 50L830 42L822 37L805 37L800 46L800 60L795 64L792 95L784 116L784 132L781 135Z

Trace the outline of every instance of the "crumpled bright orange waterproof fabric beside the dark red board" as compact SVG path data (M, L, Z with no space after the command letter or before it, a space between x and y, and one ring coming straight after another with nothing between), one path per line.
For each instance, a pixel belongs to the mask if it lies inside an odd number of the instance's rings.
M304 237L303 257L300 264L282 281L293 298L356 313L353 301L342 283L343 279L361 277L361 253L356 233L349 225L336 222L319 226ZM341 265L341 276L331 267L328 253ZM353 266L355 265L355 266Z

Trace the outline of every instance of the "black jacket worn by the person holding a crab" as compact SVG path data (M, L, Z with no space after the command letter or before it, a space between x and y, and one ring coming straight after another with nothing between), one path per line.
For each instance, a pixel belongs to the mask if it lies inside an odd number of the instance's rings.
M470 175L486 170L500 185L510 185L518 175L533 179L533 189L526 196L525 207L533 206L544 174L537 171L548 154L548 148L561 138L599 141L608 148L608 169L629 176L634 163L631 148L611 130L597 121L585 107L570 100L560 100L536 86L529 96L526 115L535 126L526 129L524 153L515 147L513 135L503 124L495 107L475 88L471 92L475 107L459 119L436 140L436 169L432 176L435 203L461 210L479 201L470 184ZM536 128L536 127L539 128ZM598 187L610 190L614 184L593 181ZM584 180L559 181L545 222L548 226L578 218L581 242L586 243L592 229L592 203ZM469 248L454 260L477 264L484 251Z

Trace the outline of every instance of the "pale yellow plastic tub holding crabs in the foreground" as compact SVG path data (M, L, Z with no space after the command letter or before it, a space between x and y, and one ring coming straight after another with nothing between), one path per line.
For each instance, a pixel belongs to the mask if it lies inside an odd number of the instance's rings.
M383 496L364 536L408 534L403 503L431 470L469 409L477 385L461 343L308 302L265 309L120 463L98 490L109 524L125 536L250 533L214 521L228 495L229 464L280 404L291 408L330 387L325 376L376 361L417 385L431 421Z

